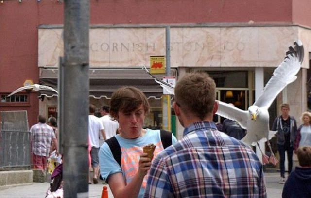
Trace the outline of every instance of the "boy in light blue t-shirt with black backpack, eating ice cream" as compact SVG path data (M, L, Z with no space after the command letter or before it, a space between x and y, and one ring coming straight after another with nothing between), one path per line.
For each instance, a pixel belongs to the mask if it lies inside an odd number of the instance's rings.
M171 145L177 141L171 132L165 131L168 136L162 139L160 130L142 128L149 109L147 97L135 87L122 87L111 96L110 114L119 122L121 131L105 141L99 156L102 177L114 198L143 196L151 165L144 146L154 144L156 156L164 149L164 142Z

